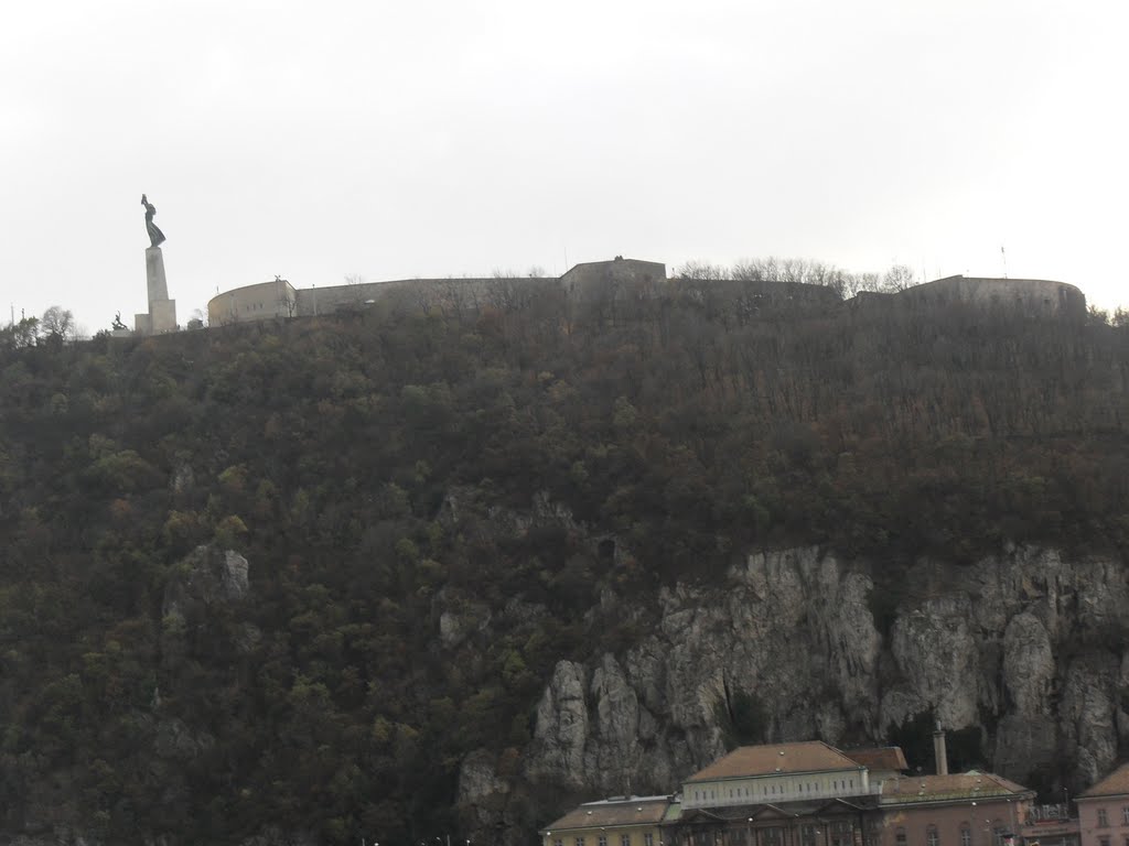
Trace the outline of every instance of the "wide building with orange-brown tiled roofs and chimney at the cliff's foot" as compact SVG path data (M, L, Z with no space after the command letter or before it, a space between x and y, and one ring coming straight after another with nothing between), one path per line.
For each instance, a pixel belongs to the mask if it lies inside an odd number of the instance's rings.
M589 803L550 826L543 846L1013 846L1030 819L1034 792L1015 782L977 772L908 777L908 768L896 747L742 747L689 776L680 796L660 800L662 813L644 820L625 800ZM615 839L616 826L633 822L649 844Z

